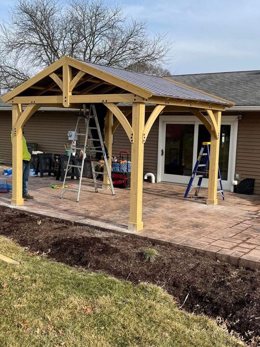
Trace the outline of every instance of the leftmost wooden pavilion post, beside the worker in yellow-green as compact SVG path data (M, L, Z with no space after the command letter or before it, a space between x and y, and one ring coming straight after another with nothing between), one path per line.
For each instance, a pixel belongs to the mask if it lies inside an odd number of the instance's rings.
M21 116L21 105L12 104L12 198L11 205L23 205L23 142L22 128L15 128Z

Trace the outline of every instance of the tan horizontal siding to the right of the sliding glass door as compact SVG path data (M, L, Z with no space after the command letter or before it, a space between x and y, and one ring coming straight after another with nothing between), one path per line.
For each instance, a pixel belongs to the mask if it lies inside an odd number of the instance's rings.
M243 112L239 120L235 174L255 178L254 193L260 194L260 112Z

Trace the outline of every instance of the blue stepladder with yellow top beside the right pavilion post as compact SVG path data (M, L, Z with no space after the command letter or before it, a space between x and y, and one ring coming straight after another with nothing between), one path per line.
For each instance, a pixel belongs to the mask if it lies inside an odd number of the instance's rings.
M188 187L186 189L186 192L184 194L184 197L188 197L188 195L190 194L192 189L195 189L195 193L192 197L198 197L203 176L208 173L208 171L206 171L206 168L207 168L207 165L208 165L209 159L210 159L209 158L209 145L210 145L210 142L202 142L202 147L201 147L197 162L196 162L194 169L192 171L192 175L191 175ZM205 151L205 149L206 149L206 151ZM202 157L204 157L204 160L203 160L203 163L200 163ZM192 185L193 181L196 177L199 178L198 184ZM225 200L225 195L224 195L224 190L223 190L223 185L222 185L219 167L218 167L218 182L220 184L220 190L217 190L217 193L221 193L223 200Z

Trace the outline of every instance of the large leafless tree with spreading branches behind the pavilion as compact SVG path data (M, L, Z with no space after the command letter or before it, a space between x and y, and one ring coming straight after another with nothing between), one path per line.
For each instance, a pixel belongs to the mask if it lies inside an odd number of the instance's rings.
M64 55L161 74L172 48L167 33L149 36L145 20L103 0L18 0L0 29L0 83L7 91Z

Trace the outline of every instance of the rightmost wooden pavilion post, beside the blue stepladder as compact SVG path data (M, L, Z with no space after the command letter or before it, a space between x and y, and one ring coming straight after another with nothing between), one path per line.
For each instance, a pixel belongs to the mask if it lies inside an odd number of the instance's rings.
M219 133L221 124L221 112L213 111L216 120L216 127L213 123L211 126L211 144L210 144L210 161L209 161L209 184L207 205L217 205L217 185L218 185L218 158L219 158Z

